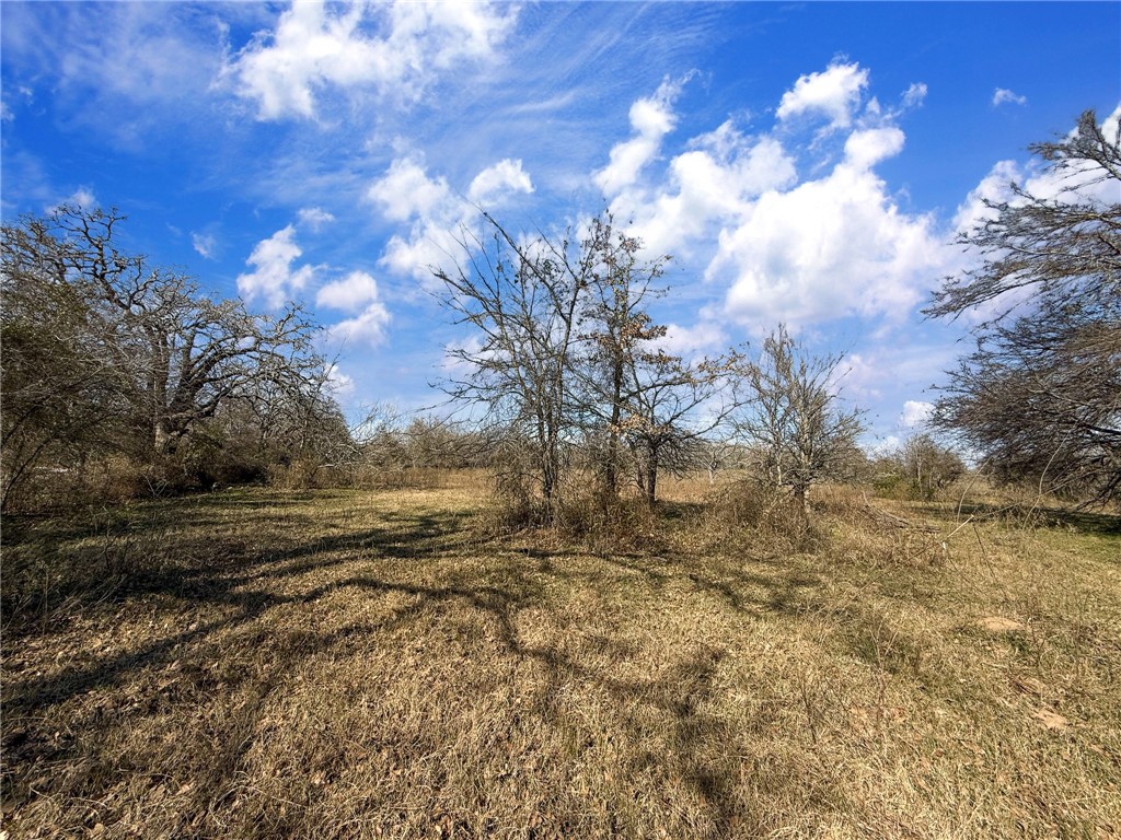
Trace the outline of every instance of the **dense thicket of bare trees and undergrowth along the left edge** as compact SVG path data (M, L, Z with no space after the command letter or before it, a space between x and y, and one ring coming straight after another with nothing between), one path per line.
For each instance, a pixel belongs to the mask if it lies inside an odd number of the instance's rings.
M114 211L0 233L2 503L108 463L151 485L234 480L340 445L316 328L253 315L119 246Z

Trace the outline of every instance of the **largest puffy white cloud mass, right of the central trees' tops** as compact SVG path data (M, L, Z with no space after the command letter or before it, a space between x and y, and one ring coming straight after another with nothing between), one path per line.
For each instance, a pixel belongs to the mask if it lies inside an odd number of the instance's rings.
M656 171L639 183L639 165L660 153L676 119L661 90L636 103L646 109L642 119L632 109L636 139L612 149L595 179L614 188L611 211L633 221L648 250L703 261L705 280L726 287L719 317L754 333L777 321L901 320L927 297L952 253L934 217L907 213L876 171L902 152L906 137L896 124L901 110L874 100L860 110L868 80L854 63L803 75L784 94L772 131L745 136L725 121L670 156L660 179ZM904 106L925 94L925 85L911 85ZM843 144L830 169L800 180L785 146L808 127L794 121L799 114L824 115ZM641 153L620 153L639 148L636 141L645 143ZM809 156L821 151L816 140L803 148ZM822 172L821 155L807 162L808 171Z

